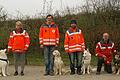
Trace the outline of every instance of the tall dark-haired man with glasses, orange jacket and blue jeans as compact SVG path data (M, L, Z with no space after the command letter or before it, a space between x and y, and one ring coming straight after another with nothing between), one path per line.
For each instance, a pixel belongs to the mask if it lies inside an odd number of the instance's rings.
M59 44L58 26L53 21L52 15L47 15L46 23L42 24L39 32L40 48L44 50L45 76L54 75L52 52Z

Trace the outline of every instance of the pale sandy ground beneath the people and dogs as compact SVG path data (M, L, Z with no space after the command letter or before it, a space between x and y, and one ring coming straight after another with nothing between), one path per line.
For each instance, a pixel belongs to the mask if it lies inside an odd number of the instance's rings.
M106 73L96 75L95 72L90 75L44 76L43 66L26 66L24 76L13 76L14 66L10 66L8 72L10 76L0 77L0 80L120 80L120 75Z

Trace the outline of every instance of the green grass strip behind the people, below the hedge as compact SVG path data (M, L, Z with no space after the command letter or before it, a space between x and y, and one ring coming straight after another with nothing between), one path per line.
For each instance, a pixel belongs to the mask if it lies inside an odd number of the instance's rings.
M65 52L62 52L62 59L64 61L65 65L69 65L69 57ZM8 55L10 65L14 64L14 58L13 54ZM33 66L43 66L44 65L44 58L42 52L36 52L36 53L27 53L26 54L26 60L27 65L33 65ZM92 56L91 65L96 65L97 59L95 56Z

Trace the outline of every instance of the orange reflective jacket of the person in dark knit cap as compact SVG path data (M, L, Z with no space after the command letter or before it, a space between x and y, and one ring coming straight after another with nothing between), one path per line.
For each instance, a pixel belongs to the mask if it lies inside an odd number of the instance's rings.
M64 40L64 48L68 53L81 52L85 49L84 38L80 29L72 31L72 28L67 30Z

